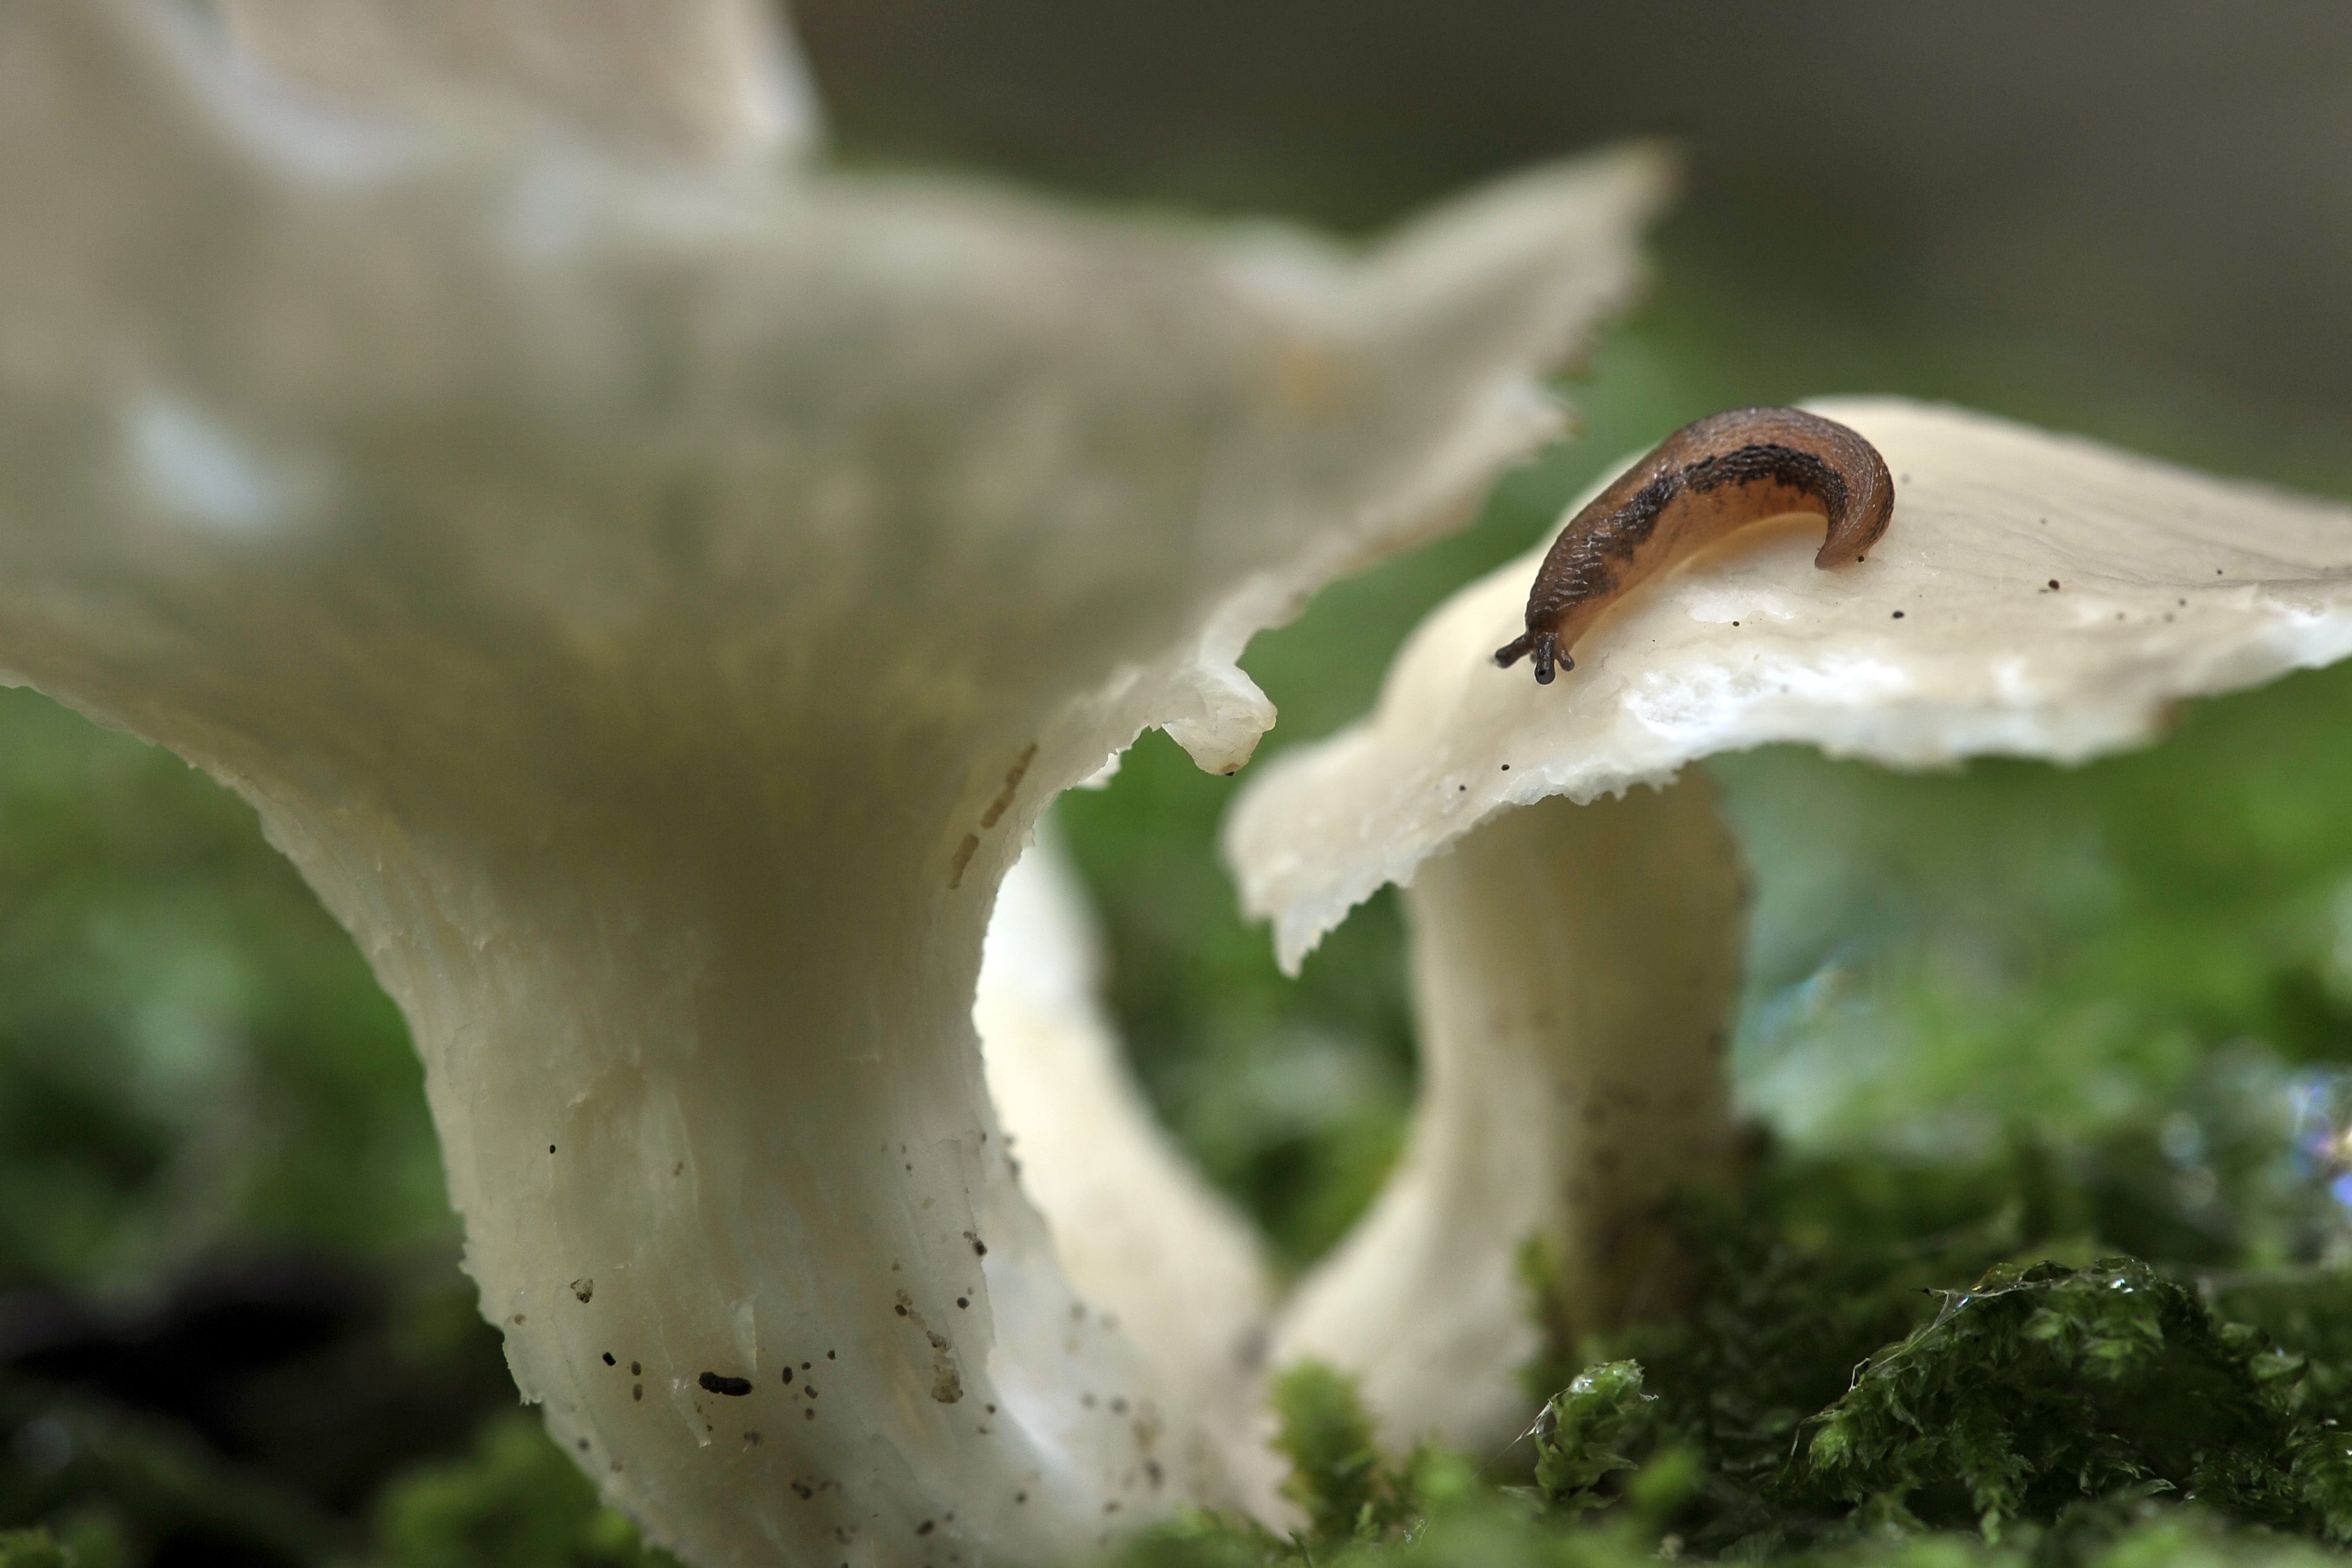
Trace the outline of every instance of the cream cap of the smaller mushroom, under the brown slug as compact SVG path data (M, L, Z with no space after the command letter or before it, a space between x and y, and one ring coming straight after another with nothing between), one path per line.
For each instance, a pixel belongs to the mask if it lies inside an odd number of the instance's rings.
M2183 698L2352 654L2352 508L1952 407L1806 407L1896 475L1865 562L1816 569L1818 517L1745 529L1625 595L1538 686L1491 649L1545 541L1414 632L1369 719L1258 771L1225 853L1287 969L1512 806L1783 741L2072 764L2154 738Z

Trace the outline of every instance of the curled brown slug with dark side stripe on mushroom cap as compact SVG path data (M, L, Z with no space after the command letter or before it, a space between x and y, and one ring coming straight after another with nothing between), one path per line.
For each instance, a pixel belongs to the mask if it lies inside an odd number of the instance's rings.
M1896 510L1886 458L1837 421L1804 409L1731 409L1675 430L1559 529L1526 595L1526 635L1496 649L1534 654L1536 679L1573 670L1569 649L1621 595L1724 534L1766 517L1830 522L1816 567L1849 567Z

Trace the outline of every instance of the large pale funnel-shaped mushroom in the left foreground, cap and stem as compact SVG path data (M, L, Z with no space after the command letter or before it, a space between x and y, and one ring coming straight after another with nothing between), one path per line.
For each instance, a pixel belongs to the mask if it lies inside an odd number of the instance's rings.
M1249 1458L1145 1309L1073 1314L974 1039L997 879L1143 726L1237 769L1249 635L1557 428L1661 162L1364 259L1108 223L520 47L642 9L233 2L289 87L0 7L0 670L230 783L355 933L515 1380L654 1540L1063 1559Z

